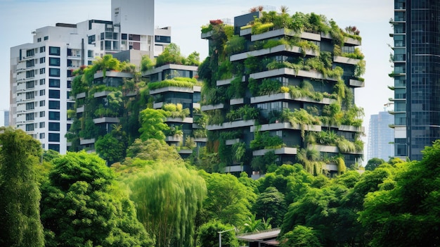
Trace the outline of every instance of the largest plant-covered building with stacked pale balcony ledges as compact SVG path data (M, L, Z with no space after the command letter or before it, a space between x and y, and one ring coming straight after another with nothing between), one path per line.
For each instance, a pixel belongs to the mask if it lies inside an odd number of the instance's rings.
M314 13L255 11L234 25L202 27L209 56L199 67L207 150L226 172L254 175L283 163L343 172L363 156L365 70L356 27Z

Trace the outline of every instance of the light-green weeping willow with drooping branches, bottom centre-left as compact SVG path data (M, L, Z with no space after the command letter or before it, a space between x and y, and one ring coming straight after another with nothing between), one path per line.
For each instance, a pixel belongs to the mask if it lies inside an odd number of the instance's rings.
M197 172L175 164L157 165L131 183L138 219L156 246L195 246L195 216L206 194Z

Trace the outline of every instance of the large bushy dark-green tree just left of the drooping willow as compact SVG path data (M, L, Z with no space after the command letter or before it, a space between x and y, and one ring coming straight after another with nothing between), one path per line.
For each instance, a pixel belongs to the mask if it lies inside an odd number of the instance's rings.
M46 246L150 246L134 204L104 160L84 151L53 160L42 185Z

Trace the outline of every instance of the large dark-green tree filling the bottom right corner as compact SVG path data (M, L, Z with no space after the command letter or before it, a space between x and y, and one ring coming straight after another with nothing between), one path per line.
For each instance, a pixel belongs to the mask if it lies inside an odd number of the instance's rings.
M422 153L422 160L406 163L365 197L359 220L371 246L440 245L440 141Z

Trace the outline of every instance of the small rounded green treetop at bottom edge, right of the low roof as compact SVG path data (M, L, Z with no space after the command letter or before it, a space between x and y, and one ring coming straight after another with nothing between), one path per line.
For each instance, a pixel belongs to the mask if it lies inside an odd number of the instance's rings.
M321 247L313 228L297 225L292 231L284 234L281 247Z

